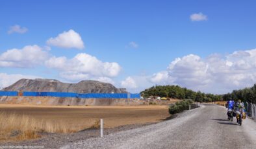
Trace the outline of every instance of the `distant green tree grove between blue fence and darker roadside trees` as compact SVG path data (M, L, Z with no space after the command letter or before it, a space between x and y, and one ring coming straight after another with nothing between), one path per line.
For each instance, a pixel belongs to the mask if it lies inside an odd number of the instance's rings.
M153 86L140 93L142 97L167 97L178 99L192 99L196 102L214 102L222 100L222 95L201 93L179 86Z

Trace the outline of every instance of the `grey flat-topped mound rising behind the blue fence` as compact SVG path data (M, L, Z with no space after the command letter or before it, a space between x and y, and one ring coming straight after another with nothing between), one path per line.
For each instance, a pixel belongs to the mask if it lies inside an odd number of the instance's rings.
M42 92L73 92L73 93L127 93L112 84L94 80L83 80L77 84L62 83L51 79L21 79L3 91L42 91Z

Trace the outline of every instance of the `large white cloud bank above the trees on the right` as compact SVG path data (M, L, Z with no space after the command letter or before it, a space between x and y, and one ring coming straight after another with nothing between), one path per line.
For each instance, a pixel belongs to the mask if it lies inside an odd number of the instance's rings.
M168 73L166 73L168 72ZM223 57L189 54L176 58L165 71L151 76L155 84L177 84L195 91L227 93L256 83L256 49Z

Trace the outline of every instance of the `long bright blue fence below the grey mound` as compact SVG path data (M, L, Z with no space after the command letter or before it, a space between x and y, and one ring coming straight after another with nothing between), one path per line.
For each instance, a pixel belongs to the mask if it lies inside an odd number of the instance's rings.
M0 96L18 96L18 91L0 91ZM74 97L74 98L140 98L140 94L130 93L65 93L24 91L24 97Z

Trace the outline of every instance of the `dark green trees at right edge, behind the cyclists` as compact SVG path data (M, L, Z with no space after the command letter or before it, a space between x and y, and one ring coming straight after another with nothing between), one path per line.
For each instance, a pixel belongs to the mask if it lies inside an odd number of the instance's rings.
M256 84L254 84L253 87L234 90L232 93L223 95L224 100L229 100L229 98L233 98L234 100L240 99L243 102L256 103Z

